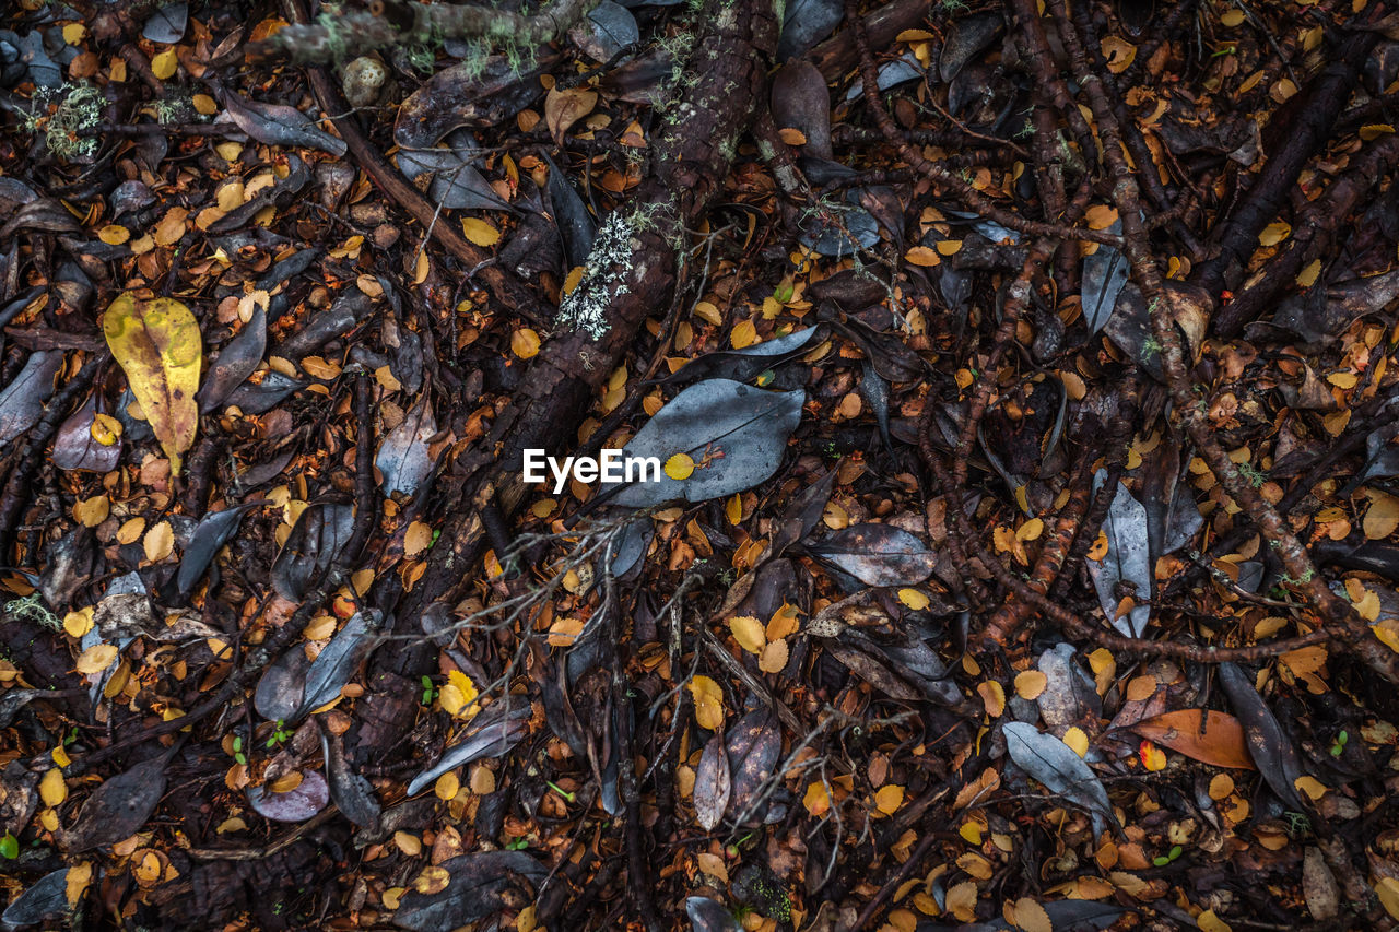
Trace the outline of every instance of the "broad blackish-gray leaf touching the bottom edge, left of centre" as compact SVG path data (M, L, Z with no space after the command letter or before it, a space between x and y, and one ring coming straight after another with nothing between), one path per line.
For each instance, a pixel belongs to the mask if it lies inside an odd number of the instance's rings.
M409 890L399 900L393 924L403 929L439 932L484 919L513 903L529 903L533 887L548 876L548 868L523 851L478 851L443 861L450 879L438 893Z

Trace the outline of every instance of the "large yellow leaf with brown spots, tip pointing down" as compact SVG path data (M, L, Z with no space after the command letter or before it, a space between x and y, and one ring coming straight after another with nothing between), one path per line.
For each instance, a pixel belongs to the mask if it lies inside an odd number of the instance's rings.
M102 315L102 332L171 472L178 473L180 455L194 444L199 428L194 393L204 351L199 322L172 298L137 301L123 294Z

